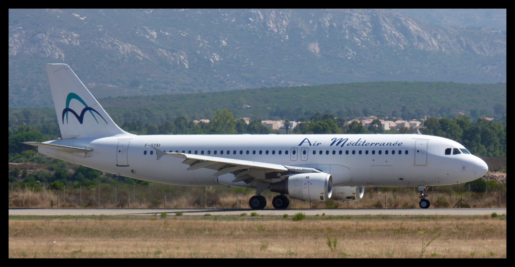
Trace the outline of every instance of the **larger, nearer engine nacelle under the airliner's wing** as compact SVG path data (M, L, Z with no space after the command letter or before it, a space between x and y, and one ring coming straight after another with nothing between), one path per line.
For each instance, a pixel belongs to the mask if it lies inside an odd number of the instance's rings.
M303 201L320 202L331 198L333 177L328 173L300 173L270 183L270 191Z

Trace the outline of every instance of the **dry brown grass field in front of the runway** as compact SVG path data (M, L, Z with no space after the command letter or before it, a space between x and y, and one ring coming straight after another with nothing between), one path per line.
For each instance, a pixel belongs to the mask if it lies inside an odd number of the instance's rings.
M507 258L506 214L9 217L9 258Z

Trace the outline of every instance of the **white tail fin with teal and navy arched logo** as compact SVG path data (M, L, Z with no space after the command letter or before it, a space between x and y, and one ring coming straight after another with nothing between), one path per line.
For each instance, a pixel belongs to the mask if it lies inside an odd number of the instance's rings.
M130 136L118 127L66 64L46 64L62 139Z

